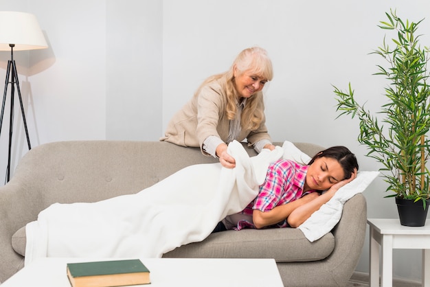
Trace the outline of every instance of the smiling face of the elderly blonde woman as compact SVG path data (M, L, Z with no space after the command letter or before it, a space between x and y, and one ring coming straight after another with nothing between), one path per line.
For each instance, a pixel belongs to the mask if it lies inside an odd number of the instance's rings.
M239 73L236 68L234 69L234 84L236 85L236 91L238 91L241 97L251 97L254 93L261 91L266 82L267 79L251 71Z

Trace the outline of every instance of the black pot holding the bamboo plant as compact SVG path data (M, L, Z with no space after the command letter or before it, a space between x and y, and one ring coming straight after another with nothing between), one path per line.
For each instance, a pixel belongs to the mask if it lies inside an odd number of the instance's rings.
M418 200L414 203L414 200L396 197L400 225L411 227L424 226L427 219L427 211L429 211L429 204L430 200L427 199L427 204L424 209L422 200Z

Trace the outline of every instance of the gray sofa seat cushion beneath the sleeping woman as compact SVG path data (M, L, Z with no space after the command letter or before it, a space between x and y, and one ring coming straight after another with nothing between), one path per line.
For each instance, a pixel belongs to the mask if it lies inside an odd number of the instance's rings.
M180 246L163 257L274 258L276 262L323 260L335 249L335 237L327 233L314 242L293 228L242 229L212 233L202 242Z

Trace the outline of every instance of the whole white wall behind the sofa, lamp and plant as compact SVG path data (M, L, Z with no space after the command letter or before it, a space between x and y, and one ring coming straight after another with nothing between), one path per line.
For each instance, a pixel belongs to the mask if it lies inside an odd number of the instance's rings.
M430 2L0 0L0 10L36 14L49 41L49 49L15 57L33 146L70 139L156 141L204 78L228 69L240 50L260 45L275 69L265 88L273 139L348 146L361 170L377 166L357 143L357 121L335 119L331 84L346 89L352 82L357 101L378 111L386 82L372 76L381 61L369 53L382 43L384 31L376 25L390 8L418 21L428 16ZM422 23L423 45L430 43L429 21ZM9 56L0 52L0 79ZM16 126L14 165L26 152L22 122ZM397 218L394 199L383 198L385 188L377 179L364 192L369 218ZM367 253L366 240L357 271L367 272ZM394 276L419 279L420 256L395 251Z

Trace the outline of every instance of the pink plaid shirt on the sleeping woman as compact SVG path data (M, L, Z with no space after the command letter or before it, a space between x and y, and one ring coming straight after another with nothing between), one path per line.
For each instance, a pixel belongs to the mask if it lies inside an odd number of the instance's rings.
M266 179L260 185L258 196L241 213L252 216L253 209L266 212L302 197L308 168L309 165L300 165L284 159L271 163L267 169ZM275 225L275 227L287 226L286 220ZM244 227L255 228L252 222L240 220L236 229L240 230Z

